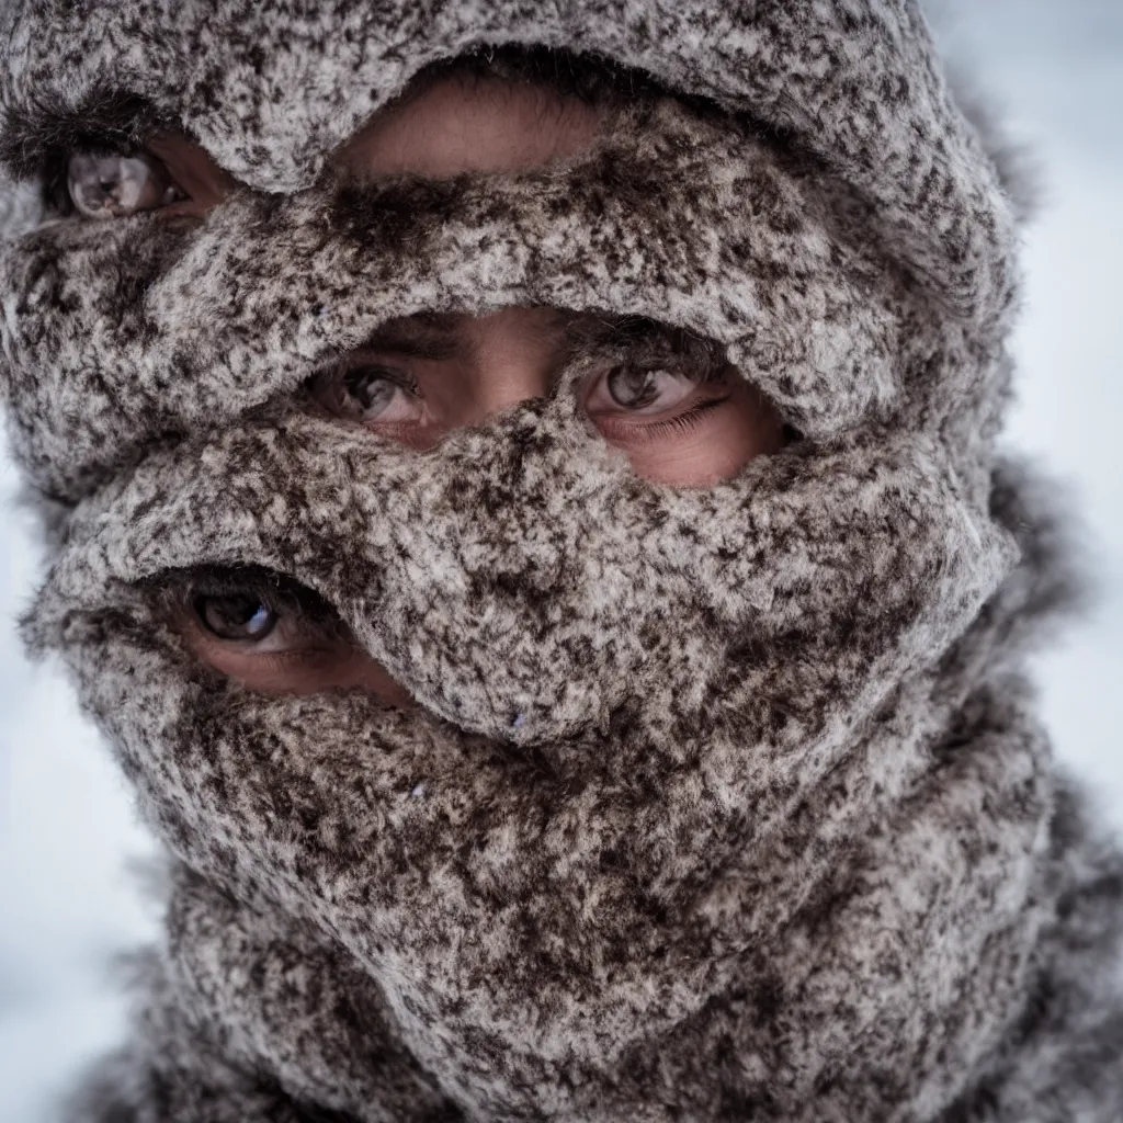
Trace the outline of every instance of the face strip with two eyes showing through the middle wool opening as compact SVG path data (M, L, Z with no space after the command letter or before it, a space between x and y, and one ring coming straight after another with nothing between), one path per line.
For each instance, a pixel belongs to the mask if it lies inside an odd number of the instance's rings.
M600 363L599 328L604 346L615 343ZM631 344L622 362L621 331ZM346 423L429 449L454 429L547 396L575 334L592 338L593 371L577 387L585 416L638 475L706 486L779 448L775 410L715 348L691 348L684 332L649 321L618 329L549 308L391 321L314 378L312 396Z

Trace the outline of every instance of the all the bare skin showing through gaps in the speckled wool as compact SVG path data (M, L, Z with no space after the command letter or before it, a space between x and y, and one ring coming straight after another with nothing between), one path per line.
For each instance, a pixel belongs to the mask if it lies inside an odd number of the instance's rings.
M375 115L332 164L367 182L401 174L442 179L545 167L587 154L608 112L526 82L447 77L408 92ZM148 154L153 189L137 209L201 216L237 186L204 149L182 136L153 137ZM168 184L177 189L171 202ZM395 321L316 380L313 401L341 424L360 424L423 451L458 427L480 424L548 394L565 360L572 320L555 309L505 308L476 318ZM700 381L668 364L650 375L640 404L634 395L619 400L614 390L620 375L613 369L606 362L594 371L579 387L582 403L590 423L655 483L710 486L783 444L780 419L731 367ZM239 617L250 615L256 601L254 620L264 623L250 636L239 630L245 623ZM337 622L328 626L295 611L291 602L274 601L268 590L258 596L249 587L243 601L211 601L211 608L223 611L234 603L217 633L199 601L186 595L177 624L202 661L255 690L308 694L362 688L390 705L410 704L404 688ZM234 626L225 627L229 619Z

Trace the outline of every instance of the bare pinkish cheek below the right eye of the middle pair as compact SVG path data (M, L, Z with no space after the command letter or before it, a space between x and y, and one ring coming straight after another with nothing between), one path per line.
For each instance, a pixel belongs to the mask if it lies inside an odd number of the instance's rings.
M696 428L670 431L623 450L636 474L645 480L677 487L705 487L736 476L756 456L779 451L783 444L779 414L746 384Z

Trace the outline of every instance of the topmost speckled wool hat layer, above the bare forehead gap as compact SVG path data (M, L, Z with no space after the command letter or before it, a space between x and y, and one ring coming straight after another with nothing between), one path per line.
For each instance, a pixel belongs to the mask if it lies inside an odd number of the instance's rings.
M752 115L748 131L782 130L865 194L953 311L1005 299L993 264L1010 216L913 0L9 0L0 104L34 118L137 97L244 183L290 193L424 67L520 45L610 60Z

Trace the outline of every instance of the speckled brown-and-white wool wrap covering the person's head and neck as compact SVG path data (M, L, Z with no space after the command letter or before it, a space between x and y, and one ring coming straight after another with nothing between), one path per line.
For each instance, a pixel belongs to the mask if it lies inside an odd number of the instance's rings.
M1014 204L912 2L3 20L2 386L54 544L26 630L168 855L71 1123L1123 1120L1123 862L1022 670L1063 536L995 450ZM509 47L637 77L591 155L326 171L423 67ZM60 153L155 125L245 186L55 209ZM579 349L427 453L303 408L384 321L510 304L716 340L800 439L640 480ZM207 565L313 590L418 707L200 666L159 590Z

